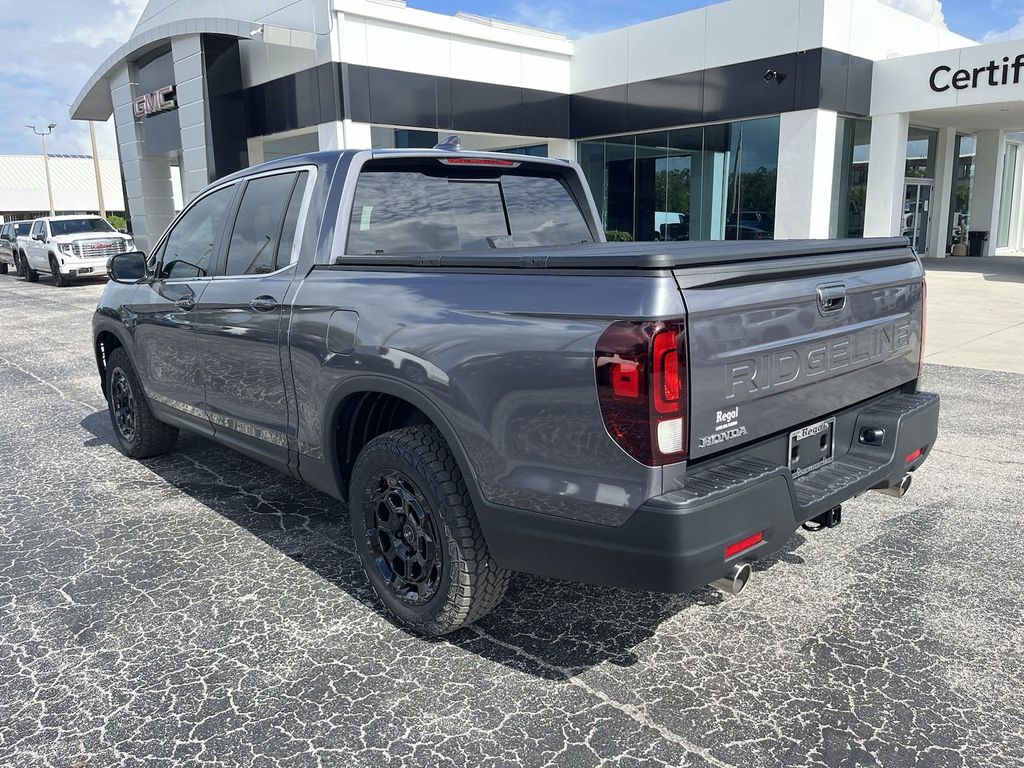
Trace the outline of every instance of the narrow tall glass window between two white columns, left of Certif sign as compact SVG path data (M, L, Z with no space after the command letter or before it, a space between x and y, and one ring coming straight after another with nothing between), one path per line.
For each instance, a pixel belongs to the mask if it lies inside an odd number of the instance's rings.
M871 121L840 118L836 131L831 238L864 237L864 201L870 161Z

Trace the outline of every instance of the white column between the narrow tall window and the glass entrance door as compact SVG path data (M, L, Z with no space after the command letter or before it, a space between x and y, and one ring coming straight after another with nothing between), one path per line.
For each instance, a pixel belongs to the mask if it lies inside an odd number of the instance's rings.
M910 116L907 113L878 115L871 119L864 237L889 238L900 233L900 215L906 193L906 136L909 128Z

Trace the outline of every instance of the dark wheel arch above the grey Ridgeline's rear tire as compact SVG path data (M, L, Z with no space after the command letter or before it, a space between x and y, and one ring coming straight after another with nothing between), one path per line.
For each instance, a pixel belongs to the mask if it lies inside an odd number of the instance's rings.
M444 412L429 397L402 382L359 376L337 386L324 418L325 463L334 473L338 497L348 499L348 481L359 451L379 434L417 424L441 433L476 506L482 501L469 454Z

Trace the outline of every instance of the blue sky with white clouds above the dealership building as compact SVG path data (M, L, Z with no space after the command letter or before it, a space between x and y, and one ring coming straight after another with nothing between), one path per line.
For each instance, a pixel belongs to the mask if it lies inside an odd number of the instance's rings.
M441 13L465 10L570 37L679 13L711 0L409 0ZM773 0L762 0L771 3ZM1024 0L883 0L976 40L1024 39ZM57 123L52 152L88 153L85 124L68 104L97 65L123 43L146 0L0 0L0 154L39 153L27 123ZM100 126L100 155L115 151Z

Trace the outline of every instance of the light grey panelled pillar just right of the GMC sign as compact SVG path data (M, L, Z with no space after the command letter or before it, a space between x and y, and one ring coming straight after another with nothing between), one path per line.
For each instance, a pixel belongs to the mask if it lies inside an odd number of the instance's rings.
M210 183L202 38L199 35L174 38L171 56L181 129L181 195L187 204Z

